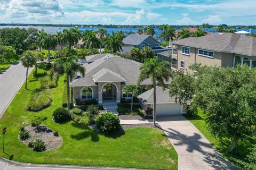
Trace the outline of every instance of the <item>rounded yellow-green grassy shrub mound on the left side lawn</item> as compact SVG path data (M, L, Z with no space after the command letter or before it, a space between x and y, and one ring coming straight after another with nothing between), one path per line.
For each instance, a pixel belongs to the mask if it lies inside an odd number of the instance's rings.
M40 111L43 108L49 107L51 101L52 98L48 91L36 89L28 101L27 110L34 112Z

